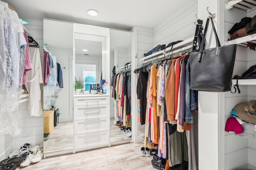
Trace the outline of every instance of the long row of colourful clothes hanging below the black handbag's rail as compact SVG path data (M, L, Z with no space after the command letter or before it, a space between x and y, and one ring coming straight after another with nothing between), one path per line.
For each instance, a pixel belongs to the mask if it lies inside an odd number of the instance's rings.
M145 90L145 136L144 146L158 147L158 156L166 160L167 166L192 161L193 169L198 165L197 95L190 90L189 54L176 55L171 59L149 64L134 70L138 73L137 95L141 98L140 88ZM143 77L147 81L142 85ZM146 83L147 86L146 86ZM148 88L145 88L148 87ZM142 101L140 101L140 122L142 122Z

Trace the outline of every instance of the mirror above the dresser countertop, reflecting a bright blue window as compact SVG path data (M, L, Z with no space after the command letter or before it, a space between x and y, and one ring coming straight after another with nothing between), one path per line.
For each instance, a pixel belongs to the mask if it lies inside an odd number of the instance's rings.
M84 80L82 94L102 79L102 41L102 36L75 33L75 78Z

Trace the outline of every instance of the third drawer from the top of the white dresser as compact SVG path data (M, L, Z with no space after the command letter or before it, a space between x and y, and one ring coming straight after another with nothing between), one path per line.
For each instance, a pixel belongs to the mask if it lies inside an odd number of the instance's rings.
M79 135L84 133L108 131L110 125L109 121L109 117L74 121L74 134Z

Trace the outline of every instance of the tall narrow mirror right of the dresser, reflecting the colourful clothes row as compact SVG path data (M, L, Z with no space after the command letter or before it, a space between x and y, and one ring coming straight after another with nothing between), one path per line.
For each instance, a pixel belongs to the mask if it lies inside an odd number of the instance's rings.
M131 107L130 107L130 68L125 64L131 62L131 32L110 29L110 143L131 140ZM113 91L114 90L114 91ZM118 142L119 141L119 142Z

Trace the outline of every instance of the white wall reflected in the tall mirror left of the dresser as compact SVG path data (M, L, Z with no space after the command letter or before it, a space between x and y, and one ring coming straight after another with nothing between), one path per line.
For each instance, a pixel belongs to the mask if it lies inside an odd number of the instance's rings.
M56 57L57 63L60 64L62 69L62 78L63 78L63 88L60 88L57 92L55 92L55 97L51 98L52 105L59 109L59 122L73 121L73 113L70 113L70 86L69 86L69 57L73 56L72 49L63 49L63 48L50 48L47 50L52 53L53 56ZM55 103L55 104L54 104Z

